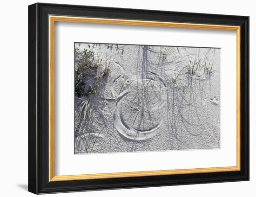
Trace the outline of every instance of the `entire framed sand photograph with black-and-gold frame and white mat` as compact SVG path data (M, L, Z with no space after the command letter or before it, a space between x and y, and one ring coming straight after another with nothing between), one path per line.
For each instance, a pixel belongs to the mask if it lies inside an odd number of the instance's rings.
M249 17L28 6L28 191L249 180Z

